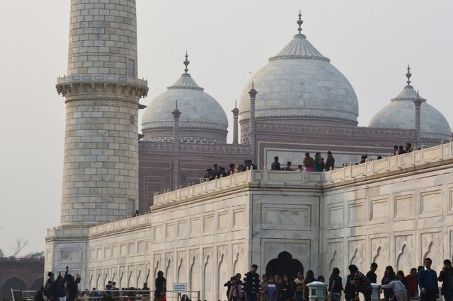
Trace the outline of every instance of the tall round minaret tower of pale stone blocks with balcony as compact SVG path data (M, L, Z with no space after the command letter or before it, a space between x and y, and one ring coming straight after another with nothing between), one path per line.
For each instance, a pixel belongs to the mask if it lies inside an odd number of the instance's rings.
M118 4L120 2L120 4ZM62 226L130 216L138 201L135 0L71 0Z

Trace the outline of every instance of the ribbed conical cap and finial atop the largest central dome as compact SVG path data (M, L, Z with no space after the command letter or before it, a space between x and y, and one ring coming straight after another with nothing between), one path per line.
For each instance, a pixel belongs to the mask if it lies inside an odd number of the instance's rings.
M297 28L297 33L294 35L294 39L289 42L288 45L285 46L275 57L271 57L269 61L273 61L275 59L321 59L322 61L331 61L327 57L324 57L321 52L316 50L316 48L311 45L311 43L306 40L306 36L301 33L302 28L301 25L304 21L300 18L302 15L299 11L299 20L297 20L297 24L299 24L299 28Z

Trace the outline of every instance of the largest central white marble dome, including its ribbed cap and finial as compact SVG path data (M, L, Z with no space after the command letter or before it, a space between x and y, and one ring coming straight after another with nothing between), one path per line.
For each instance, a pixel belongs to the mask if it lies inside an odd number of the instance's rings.
M239 103L241 126L250 119L252 82L256 119L357 126L359 105L348 79L300 33L246 84Z

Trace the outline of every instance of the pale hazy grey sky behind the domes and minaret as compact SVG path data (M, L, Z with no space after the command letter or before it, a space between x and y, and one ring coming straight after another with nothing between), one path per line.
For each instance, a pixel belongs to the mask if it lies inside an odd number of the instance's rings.
M0 0L0 249L45 247L59 225L69 0ZM359 100L359 125L412 85L453 125L451 0L137 0L139 77L147 105L189 73L229 116L244 85L297 33L331 59ZM259 93L259 91L258 91ZM231 140L231 137L229 137Z

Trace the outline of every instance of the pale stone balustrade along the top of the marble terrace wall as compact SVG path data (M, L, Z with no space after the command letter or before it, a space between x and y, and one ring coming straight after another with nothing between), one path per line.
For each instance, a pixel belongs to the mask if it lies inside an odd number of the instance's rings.
M440 160L453 158L453 141L431 148L421 148L418 151L405 153L403 155L389 155L379 160L370 160L358 165L348 165L328 172L287 172L276 170L247 170L238 172L229 177L221 177L212 181L200 184L191 184L188 187L166 191L163 194L154 194L154 206L173 203L189 199L195 196L202 196L214 191L238 187L248 183L260 183L263 185L305 185L321 186L323 184L340 183L361 177L384 174L396 170L403 170L408 167L423 165ZM99 226L98 226L99 227Z

